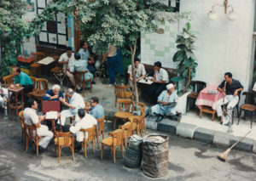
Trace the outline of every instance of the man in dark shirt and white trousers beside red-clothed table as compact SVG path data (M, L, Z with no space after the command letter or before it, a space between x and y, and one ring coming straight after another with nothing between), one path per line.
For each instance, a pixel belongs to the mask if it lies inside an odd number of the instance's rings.
M222 116L222 109L221 105L228 104L227 106L227 112L229 116L232 114L233 108L237 105L239 101L239 94L243 90L243 86L241 83L235 79L232 78L232 74L230 72L226 72L224 74L224 81L221 82L218 86L218 91L221 93L224 93L224 102L223 99L219 99L216 104L216 111L218 115L218 119L221 120ZM224 124L229 123L229 120L226 120L227 122L223 122Z

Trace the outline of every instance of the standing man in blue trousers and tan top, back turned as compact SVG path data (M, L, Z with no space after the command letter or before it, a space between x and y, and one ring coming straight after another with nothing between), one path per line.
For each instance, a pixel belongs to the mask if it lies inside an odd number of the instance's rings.
M108 52L104 54L104 57L102 59L102 64L104 64L106 58L107 58L107 66L108 66L108 76L110 79L110 83L108 87L113 87L113 84L115 82L115 76L114 71L117 64L117 48L111 44L108 44Z

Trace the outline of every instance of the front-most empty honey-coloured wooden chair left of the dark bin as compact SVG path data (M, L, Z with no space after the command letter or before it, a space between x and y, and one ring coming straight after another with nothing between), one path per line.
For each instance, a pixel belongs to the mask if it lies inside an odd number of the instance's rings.
M116 151L117 146L120 146L122 156L124 157L124 147L123 147L124 130L117 129L117 130L114 130L112 133L108 133L108 135L111 137L108 137L108 138L102 140L102 156L101 156L101 158L103 157L104 146L108 146L112 150L113 162L115 163L115 151Z

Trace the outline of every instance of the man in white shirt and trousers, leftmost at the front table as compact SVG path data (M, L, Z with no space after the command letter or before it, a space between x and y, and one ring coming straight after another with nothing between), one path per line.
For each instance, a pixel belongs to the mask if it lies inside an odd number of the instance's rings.
M37 127L38 136L42 136L43 139L39 141L39 148L41 150L46 149L50 139L53 138L53 133L49 131L48 127L41 125L44 121L44 116L37 115L38 103L35 99L30 98L27 101L29 107L24 110L23 116L27 125L35 125Z

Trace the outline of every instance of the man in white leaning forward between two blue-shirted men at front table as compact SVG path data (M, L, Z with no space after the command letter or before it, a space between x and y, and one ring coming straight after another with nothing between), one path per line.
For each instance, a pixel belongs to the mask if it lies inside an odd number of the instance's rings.
M67 117L76 116L80 108L84 109L84 98L79 93L74 93L72 88L68 88L67 92L68 103L65 102L64 105L67 105L68 110L61 111L61 125L64 126ZM77 119L77 117L76 117Z

